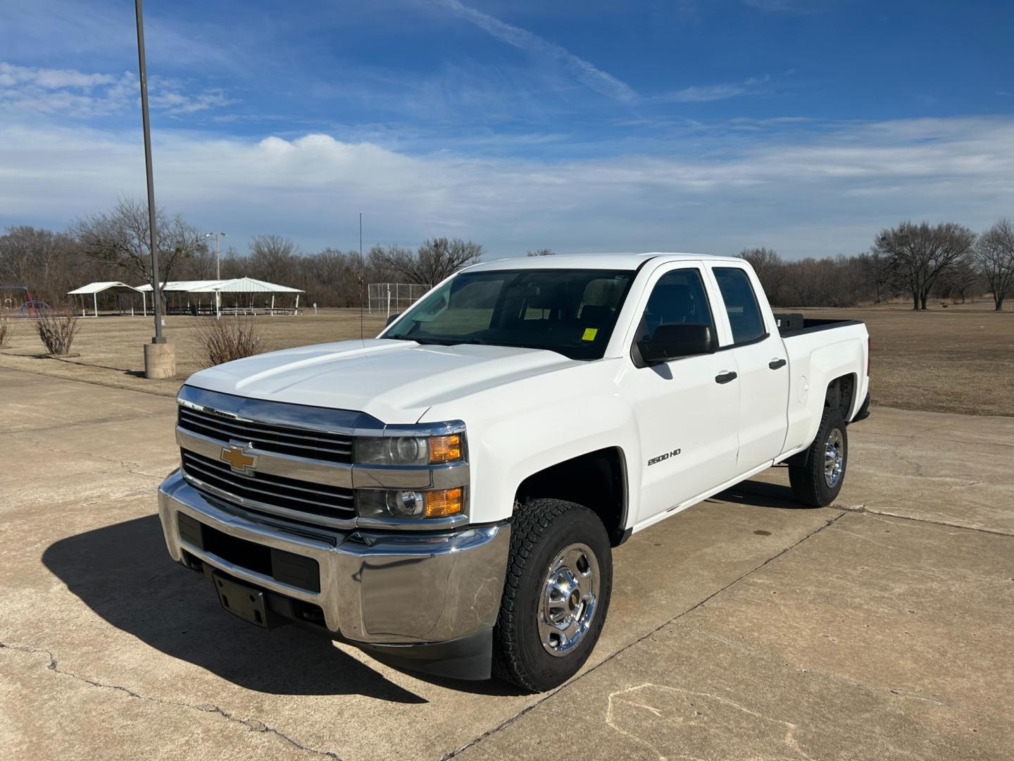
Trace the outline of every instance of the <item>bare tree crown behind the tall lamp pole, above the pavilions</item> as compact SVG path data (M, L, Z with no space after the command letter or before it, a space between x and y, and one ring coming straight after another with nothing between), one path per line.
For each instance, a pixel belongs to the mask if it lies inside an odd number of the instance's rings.
M156 209L158 227L158 277L164 283L176 263L207 249L204 235L176 214L168 218ZM144 283L151 283L151 236L148 231L148 205L122 198L104 214L78 219L72 226L81 251L97 262L111 265Z

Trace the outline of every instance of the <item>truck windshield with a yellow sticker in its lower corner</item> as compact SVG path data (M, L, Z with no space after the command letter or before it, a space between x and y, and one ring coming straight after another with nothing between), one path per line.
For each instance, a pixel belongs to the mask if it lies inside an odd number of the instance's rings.
M383 338L493 344L601 359L633 271L465 272L403 315Z

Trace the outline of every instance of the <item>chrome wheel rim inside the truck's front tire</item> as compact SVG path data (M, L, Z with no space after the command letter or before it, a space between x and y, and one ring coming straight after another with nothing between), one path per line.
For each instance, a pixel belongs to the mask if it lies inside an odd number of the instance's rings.
M598 560L587 545L565 547L542 581L538 637L551 655L566 655L591 626L598 602Z

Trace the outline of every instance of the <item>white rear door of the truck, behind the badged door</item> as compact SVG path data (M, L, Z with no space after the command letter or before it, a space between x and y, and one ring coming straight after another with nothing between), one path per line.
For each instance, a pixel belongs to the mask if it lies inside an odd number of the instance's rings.
M789 366L778 327L769 324L760 284L745 267L712 267L732 333L727 350L739 373L739 473L782 454L788 430ZM766 315L768 317L766 317ZM721 352L720 352L721 353Z

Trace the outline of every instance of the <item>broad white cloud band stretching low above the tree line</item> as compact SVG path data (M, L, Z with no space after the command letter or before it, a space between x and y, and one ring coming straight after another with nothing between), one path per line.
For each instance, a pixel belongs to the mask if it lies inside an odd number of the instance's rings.
M139 132L139 131L138 131ZM753 133L750 133L751 135ZM907 218L983 227L1014 208L1014 119L924 119L762 133L734 151L699 136L693 158L536 160L409 155L309 134L155 136L159 203L239 248L258 232L304 248L458 234L491 256L556 251L855 253ZM140 135L0 127L0 226L62 227L118 196L143 197Z

